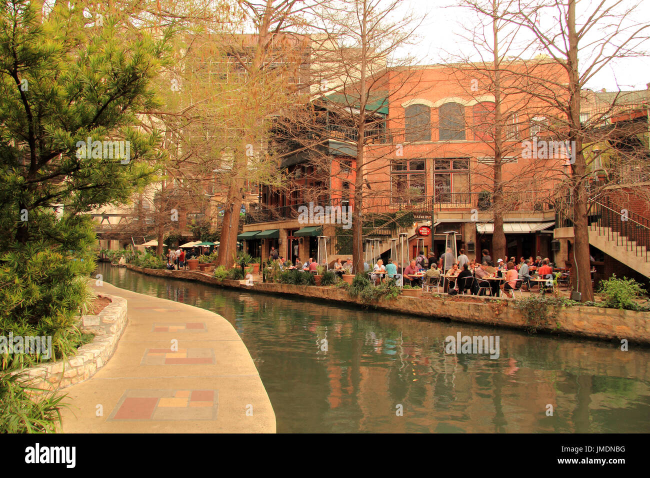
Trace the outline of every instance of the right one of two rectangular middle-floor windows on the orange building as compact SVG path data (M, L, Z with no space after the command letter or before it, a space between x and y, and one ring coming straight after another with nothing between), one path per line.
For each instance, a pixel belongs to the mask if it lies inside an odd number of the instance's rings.
M434 160L435 202L469 204L469 159Z

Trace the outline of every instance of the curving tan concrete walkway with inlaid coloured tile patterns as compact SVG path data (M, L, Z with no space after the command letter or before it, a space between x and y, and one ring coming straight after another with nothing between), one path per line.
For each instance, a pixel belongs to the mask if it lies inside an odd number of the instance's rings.
M230 323L200 308L119 289L129 322L92 378L62 389L67 433L271 432L276 417Z

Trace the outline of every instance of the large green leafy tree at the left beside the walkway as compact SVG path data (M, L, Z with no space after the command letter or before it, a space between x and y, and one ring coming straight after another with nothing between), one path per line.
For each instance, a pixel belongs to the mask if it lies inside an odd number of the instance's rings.
M41 7L0 4L0 334L51 336L57 359L75 351L74 324L92 297L88 213L129 202L162 170L150 166L164 158L161 138L138 127L138 113L160 104L152 83L169 59L170 33L125 34L119 15L88 28L81 5L53 3L47 15ZM122 141L118 151L103 144L113 140ZM40 360L17 355L3 367ZM14 390L10 400L21 396L11 382L3 387Z

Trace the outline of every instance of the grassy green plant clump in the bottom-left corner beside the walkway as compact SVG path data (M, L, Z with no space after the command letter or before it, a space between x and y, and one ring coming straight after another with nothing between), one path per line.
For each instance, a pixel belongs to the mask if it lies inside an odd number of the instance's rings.
M22 380L22 381L20 381ZM54 433L61 424L59 408L66 395L55 392L32 395L42 389L26 380L24 373L0 375L0 433Z

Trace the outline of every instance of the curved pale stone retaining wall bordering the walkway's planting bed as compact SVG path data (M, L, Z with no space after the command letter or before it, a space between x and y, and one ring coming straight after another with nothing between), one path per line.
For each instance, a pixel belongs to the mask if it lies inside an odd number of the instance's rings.
M77 354L68 360L23 369L33 378L32 386L56 390L78 384L95 375L117 348L118 341L127 323L127 300L109 294L99 294L111 300L98 315L81 317L81 331L92 332L95 338L77 349Z

